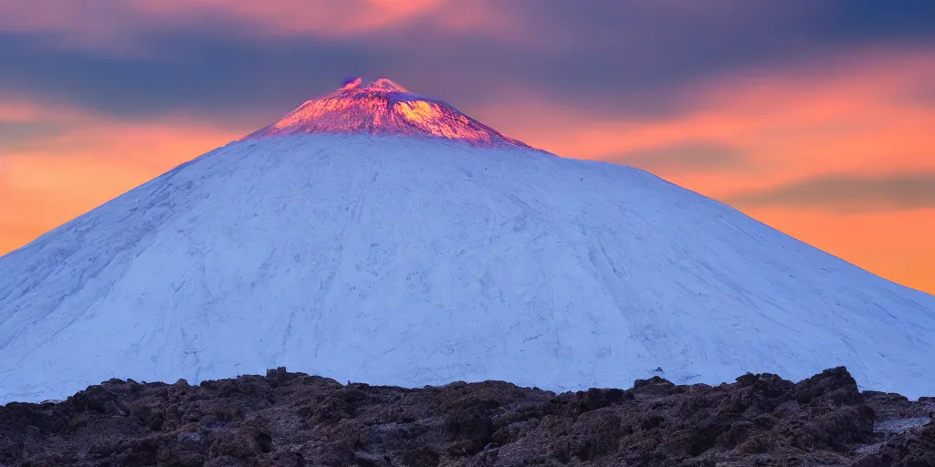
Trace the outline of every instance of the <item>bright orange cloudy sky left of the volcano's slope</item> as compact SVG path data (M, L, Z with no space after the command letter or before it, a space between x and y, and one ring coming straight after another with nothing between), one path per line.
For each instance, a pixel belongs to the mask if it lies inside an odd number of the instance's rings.
M0 254L240 135L184 117L122 122L22 103L0 106L0 121L64 128L0 148Z

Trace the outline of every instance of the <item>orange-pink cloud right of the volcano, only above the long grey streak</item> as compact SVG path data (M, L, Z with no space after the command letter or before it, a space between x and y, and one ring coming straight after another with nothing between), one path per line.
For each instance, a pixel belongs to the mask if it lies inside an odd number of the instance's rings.
M683 112L656 120L593 115L530 95L477 113L567 157L621 160L697 142L736 149L746 161L730 173L660 172L716 196L829 172L935 170L935 105L913 99L935 82L930 54L852 57L806 78L799 72L707 83Z

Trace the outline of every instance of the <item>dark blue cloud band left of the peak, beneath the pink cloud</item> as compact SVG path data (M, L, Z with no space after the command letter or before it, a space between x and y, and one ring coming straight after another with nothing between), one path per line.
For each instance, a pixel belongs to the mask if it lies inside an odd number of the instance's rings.
M148 52L135 58L64 49L43 35L0 35L0 88L121 117L187 110L238 120L232 112L295 106L297 90L337 87L336 76L372 73L385 61L375 50L309 39L176 33L143 42Z

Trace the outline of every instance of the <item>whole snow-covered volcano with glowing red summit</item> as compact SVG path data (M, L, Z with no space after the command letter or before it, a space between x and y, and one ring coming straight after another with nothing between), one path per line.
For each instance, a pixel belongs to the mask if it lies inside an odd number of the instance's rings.
M358 84L0 258L0 402L276 366L562 390L846 365L935 394L935 297Z

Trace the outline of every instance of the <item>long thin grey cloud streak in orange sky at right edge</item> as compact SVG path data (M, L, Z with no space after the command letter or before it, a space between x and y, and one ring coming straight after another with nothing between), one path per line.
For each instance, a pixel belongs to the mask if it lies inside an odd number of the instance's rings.
M888 177L826 175L766 191L735 194L728 204L868 212L935 207L935 172Z

